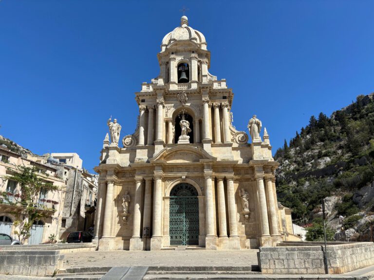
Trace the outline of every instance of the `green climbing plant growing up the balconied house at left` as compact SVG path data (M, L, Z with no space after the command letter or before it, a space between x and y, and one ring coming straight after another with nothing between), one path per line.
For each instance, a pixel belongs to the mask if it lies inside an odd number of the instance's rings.
M17 235L21 244L30 237L31 227L35 220L42 217L38 209L38 197L40 190L52 191L57 187L52 183L46 182L38 175L38 169L35 166L18 166L13 175L6 176L6 179L19 182L20 185L20 212L18 219L14 222L17 228L14 233Z

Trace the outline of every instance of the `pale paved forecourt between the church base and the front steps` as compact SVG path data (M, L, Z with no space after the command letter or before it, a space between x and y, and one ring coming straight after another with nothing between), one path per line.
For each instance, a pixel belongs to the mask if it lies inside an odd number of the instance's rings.
M91 251L65 254L64 268L84 266L249 266L258 250Z

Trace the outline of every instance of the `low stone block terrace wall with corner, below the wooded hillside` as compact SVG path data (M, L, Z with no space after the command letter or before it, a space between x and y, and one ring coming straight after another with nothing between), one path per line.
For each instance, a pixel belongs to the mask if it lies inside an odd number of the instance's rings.
M330 243L332 244L332 243ZM323 245L260 247L257 253L263 274L325 274ZM374 264L371 242L327 245L330 274L346 273Z

